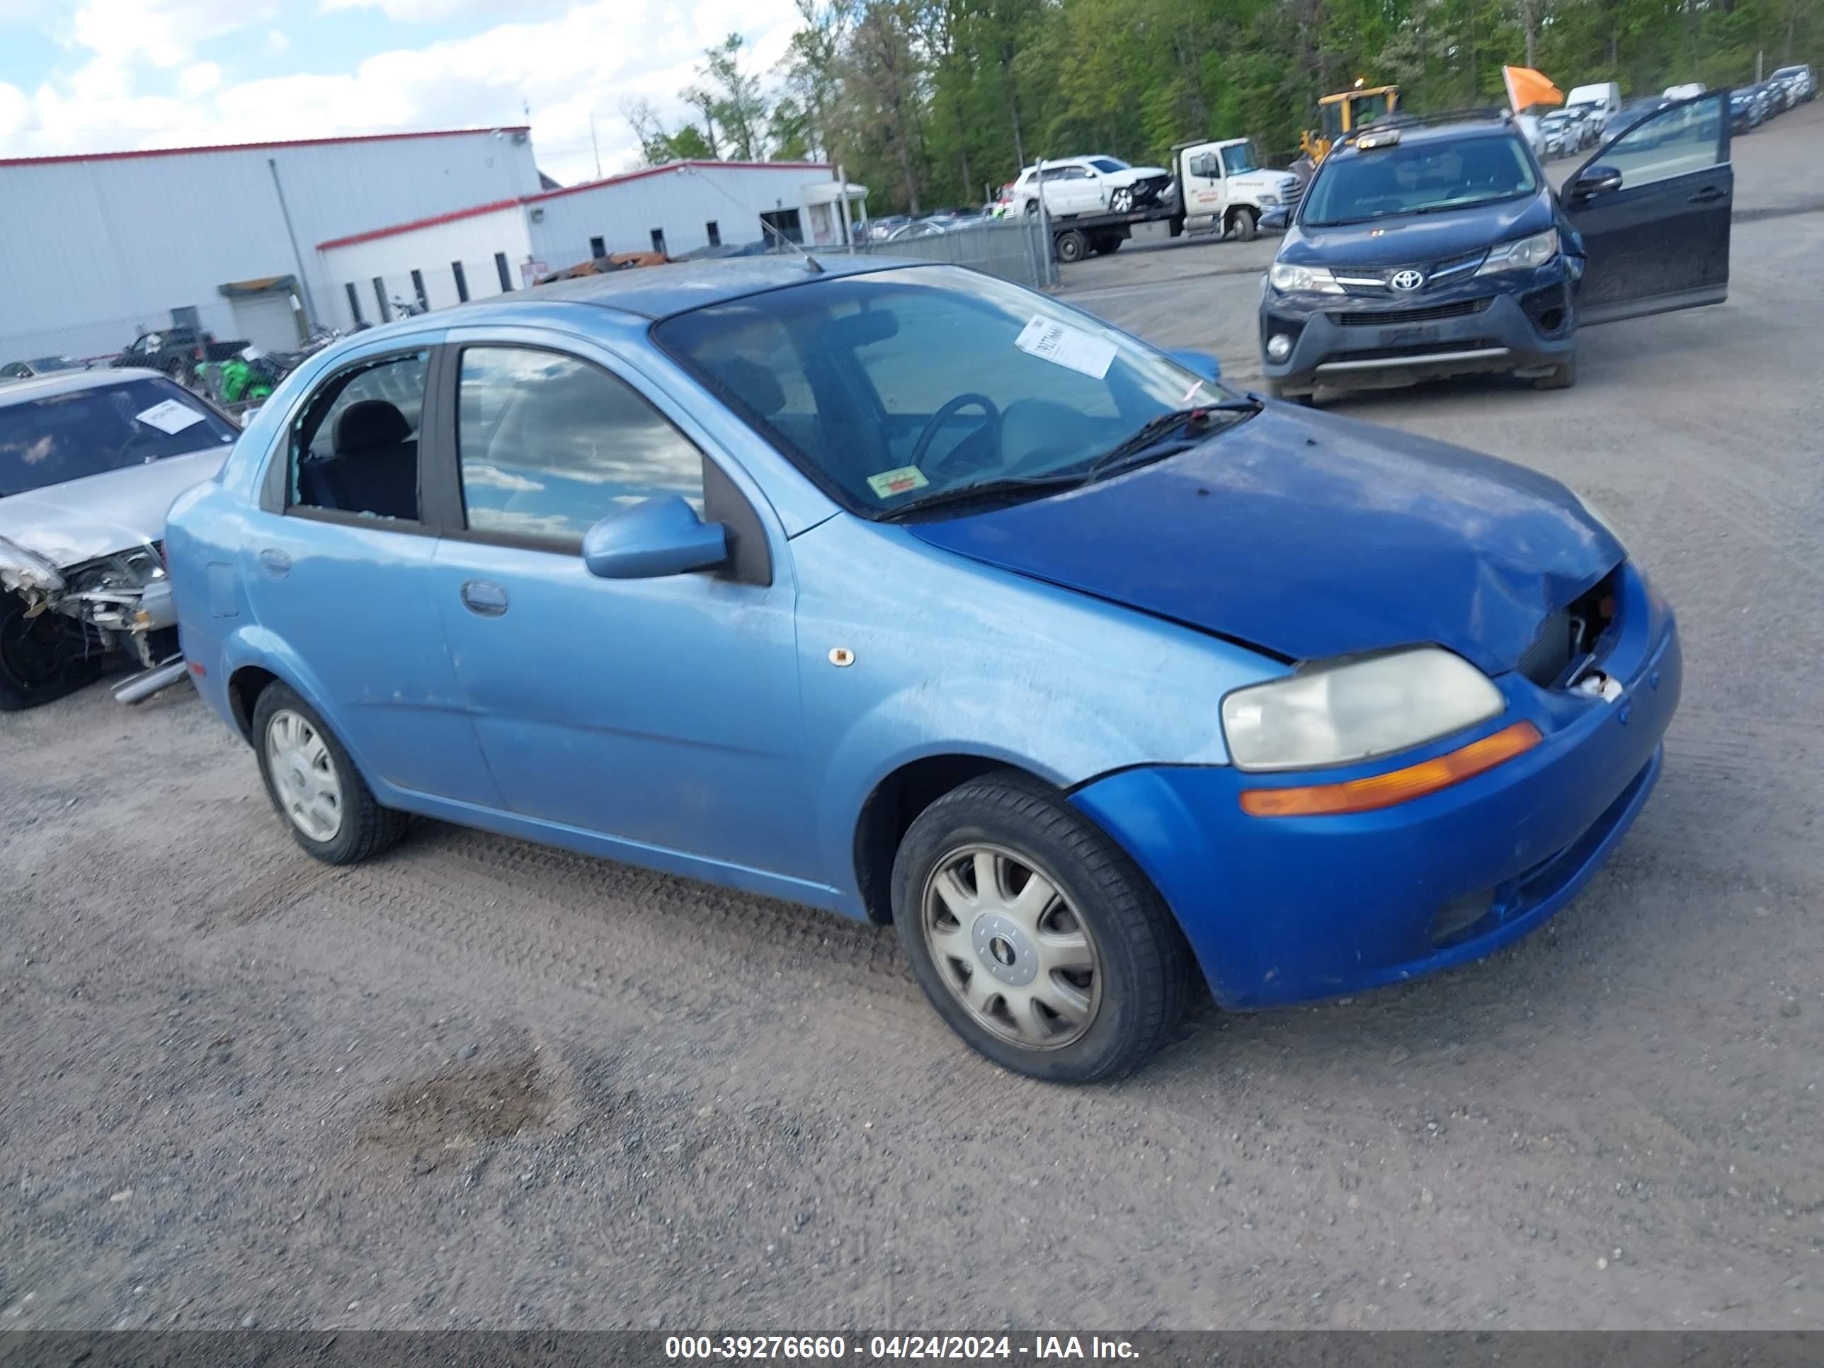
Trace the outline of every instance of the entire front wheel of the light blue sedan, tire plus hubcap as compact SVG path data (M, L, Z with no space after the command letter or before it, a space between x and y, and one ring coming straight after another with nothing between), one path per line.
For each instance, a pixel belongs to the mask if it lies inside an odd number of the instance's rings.
M938 1014L1052 1083L1138 1067L1189 994L1189 950L1127 854L1018 773L950 790L894 861L894 921Z

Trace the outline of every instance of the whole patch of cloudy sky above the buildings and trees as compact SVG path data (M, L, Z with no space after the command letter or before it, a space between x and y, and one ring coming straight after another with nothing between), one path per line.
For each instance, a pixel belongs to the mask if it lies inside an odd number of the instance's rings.
M591 113L631 170L629 100L677 128L704 47L770 73L793 27L792 0L0 0L0 159L529 122L575 184Z

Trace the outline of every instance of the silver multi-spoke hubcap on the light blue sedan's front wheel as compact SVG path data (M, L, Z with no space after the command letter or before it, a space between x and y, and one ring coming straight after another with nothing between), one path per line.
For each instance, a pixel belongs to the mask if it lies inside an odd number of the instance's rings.
M1096 943L1023 857L985 845L952 850L925 879L921 916L945 987L1001 1040L1062 1049L1096 1020Z

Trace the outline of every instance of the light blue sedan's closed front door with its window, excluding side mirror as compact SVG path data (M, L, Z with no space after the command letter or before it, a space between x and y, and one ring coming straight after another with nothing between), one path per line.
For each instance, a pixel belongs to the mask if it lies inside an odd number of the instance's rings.
M505 806L640 846L810 876L784 534L640 378L573 337L467 328L436 615ZM584 533L679 494L730 567L604 580Z

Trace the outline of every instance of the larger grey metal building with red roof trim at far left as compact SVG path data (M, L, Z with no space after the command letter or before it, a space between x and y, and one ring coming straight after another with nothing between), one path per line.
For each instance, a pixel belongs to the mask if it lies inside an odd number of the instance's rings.
M283 350L348 321L317 243L538 190L525 128L5 159L0 363L182 323Z

